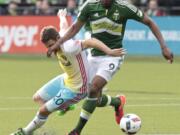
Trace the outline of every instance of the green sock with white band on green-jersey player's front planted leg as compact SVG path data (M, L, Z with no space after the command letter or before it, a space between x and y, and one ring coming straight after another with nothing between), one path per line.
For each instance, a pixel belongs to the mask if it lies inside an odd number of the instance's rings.
M80 119L75 128L78 133L81 133L81 130L84 128L86 122L89 120L91 114L94 112L96 104L97 98L88 98L84 101L80 114Z

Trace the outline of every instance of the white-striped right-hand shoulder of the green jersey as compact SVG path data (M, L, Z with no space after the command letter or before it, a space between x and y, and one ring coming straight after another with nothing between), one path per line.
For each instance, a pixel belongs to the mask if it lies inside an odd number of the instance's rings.
M115 0L115 4L117 4L120 8L126 8L128 10L131 10L133 12L137 12L137 7L134 6L133 4L129 3L126 0Z

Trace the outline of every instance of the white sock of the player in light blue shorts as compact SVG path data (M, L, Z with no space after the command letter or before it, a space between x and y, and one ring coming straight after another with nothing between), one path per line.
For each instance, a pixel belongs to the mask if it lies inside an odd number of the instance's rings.
M46 120L47 120L46 116L42 116L39 113L37 113L34 119L25 128L23 128L23 131L26 134L30 134L37 128L40 128L42 125L44 125Z

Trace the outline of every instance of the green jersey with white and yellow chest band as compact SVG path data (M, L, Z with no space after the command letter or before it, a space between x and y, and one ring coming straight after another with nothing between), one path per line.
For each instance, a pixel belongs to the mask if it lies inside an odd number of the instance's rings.
M92 37L114 49L122 47L127 20L141 21L143 17L141 10L124 0L114 0L109 9L104 8L100 0L87 0L80 9L78 20L89 23ZM92 49L91 53L105 55L97 49Z

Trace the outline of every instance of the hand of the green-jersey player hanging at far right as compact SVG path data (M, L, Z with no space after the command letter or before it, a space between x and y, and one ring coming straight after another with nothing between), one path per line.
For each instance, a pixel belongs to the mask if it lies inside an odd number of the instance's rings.
M162 48L162 55L169 63L173 63L174 56L169 48L167 48L167 47Z

